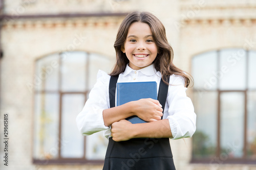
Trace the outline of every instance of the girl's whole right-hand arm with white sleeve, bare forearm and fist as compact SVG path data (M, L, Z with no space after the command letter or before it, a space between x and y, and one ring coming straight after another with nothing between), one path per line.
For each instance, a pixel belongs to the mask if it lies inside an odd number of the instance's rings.
M191 100L186 96L183 79L175 76L172 80L166 99L165 119L144 124L131 124L126 120L120 120L112 125L114 140L121 141L136 137L179 139L191 137L194 134L196 114Z

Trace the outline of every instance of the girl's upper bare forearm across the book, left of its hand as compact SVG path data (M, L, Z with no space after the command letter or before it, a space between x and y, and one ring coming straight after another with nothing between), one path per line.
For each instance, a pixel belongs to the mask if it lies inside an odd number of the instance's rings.
M121 119L135 115L132 112L133 103L129 102L121 106L112 107L109 109L103 110L103 120L105 126L110 126L114 122L118 122Z

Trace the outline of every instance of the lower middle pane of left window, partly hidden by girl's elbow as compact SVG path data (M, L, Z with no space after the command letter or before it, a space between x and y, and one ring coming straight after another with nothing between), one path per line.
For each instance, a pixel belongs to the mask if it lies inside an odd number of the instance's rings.
M61 157L82 158L84 137L77 130L76 116L84 105L84 94L63 94L61 107Z

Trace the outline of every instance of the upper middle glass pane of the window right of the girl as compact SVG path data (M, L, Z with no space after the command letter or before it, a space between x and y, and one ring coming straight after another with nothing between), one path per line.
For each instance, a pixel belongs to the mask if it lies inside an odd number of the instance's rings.
M220 51L218 78L221 90L246 89L246 52L242 49Z

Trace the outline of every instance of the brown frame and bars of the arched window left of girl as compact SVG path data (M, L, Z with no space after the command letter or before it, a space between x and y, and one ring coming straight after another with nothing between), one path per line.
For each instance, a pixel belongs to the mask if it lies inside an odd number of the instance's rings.
M88 96L89 96L89 92L91 89L89 89L89 81L90 81L90 78L89 78L89 75L90 75L90 59L91 59L91 55L93 54L96 54L96 53L88 53L88 52L84 52L84 51L69 51L68 53L72 53L72 52L82 52L85 54L85 57L86 57L86 62L85 62L85 67L86 67L86 81L85 81L85 86L86 86L86 89L84 91L62 91L61 90L61 66L62 66L62 62L61 62L61 58L62 58L62 54L63 53L66 53L66 52L60 52L60 53L55 53L56 55L58 55L58 89L57 90L46 90L46 89L34 89L33 90L33 98L35 99L35 96L36 94L49 94L49 93L56 93L59 95L59 108L58 108L58 119L59 119L59 124L58 124L58 147L57 147L57 158L56 159L48 159L48 158L45 158L45 159L38 159L38 158L35 158L34 157L34 154L32 152L32 162L33 164L40 164L40 165L46 165L46 164L70 164L70 163L79 163L79 164L87 164L87 163L90 163L90 164L103 164L104 163L104 160L89 160L89 159L86 159L86 143L87 143L87 138L86 136L83 136L83 156L81 158L63 158L61 156L61 124L62 124L62 121L61 121L61 116L62 116L62 96L65 95L65 94L82 94L84 96L84 101L83 103L86 103L86 101L88 100ZM47 55L47 56L44 56L44 57L41 57L41 58L38 58L35 60L35 63L34 63L34 75L36 74L36 70L37 70L37 62L42 60L42 59L45 59L47 57L51 57L51 55L54 55L54 54L50 54L50 55ZM97 55L97 54L96 54ZM100 55L101 56L101 55ZM103 57L103 56L102 56ZM35 109L35 101L33 103L33 113L35 112L34 109ZM35 118L35 114L33 114L33 120ZM33 140L35 140L35 135L34 135L34 124L33 123ZM35 144L34 142L33 143L33 146L32 146L32 151L34 151L35 149Z

